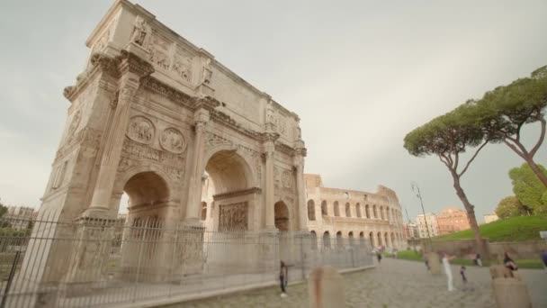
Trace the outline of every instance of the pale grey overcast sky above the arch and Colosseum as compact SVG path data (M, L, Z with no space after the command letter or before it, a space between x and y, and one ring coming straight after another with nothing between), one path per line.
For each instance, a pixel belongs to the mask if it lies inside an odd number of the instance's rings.
M0 3L4 203L40 205L69 105L62 90L84 68L85 40L112 3ZM421 210L411 181L426 212L462 204L438 159L403 149L408 131L547 64L542 0L138 3L300 115L306 172L330 187L390 186L413 220ZM544 165L546 149L536 157ZM507 171L522 162L488 146L463 177L480 222L512 195Z

